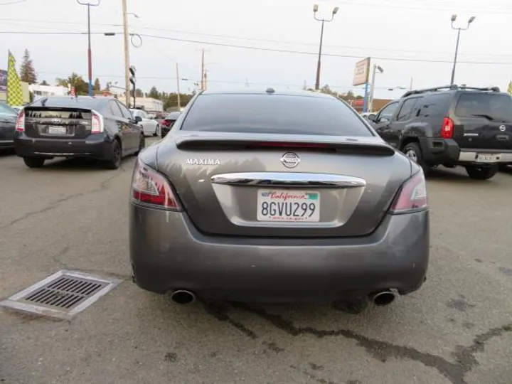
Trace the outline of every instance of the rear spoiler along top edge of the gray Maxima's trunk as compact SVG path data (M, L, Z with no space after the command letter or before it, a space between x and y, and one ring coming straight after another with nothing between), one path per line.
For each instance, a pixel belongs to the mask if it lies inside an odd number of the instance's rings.
M224 139L215 137L176 137L178 149L196 149L209 151L225 151L240 149L268 149L280 148L283 150L307 149L312 151L333 151L344 154L367 154L375 156L393 156L395 149L385 143L358 142L351 139L346 142L329 142L321 140L304 141L302 139L283 140L255 140L255 139Z

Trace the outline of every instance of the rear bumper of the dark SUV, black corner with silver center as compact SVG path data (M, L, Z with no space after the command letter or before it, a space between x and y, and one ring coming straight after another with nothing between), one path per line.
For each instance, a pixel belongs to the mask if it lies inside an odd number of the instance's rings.
M460 148L453 139L422 137L420 138L420 147L423 159L430 165L481 164L476 161L479 154L498 155L496 164L512 163L512 150L510 149L464 149Z

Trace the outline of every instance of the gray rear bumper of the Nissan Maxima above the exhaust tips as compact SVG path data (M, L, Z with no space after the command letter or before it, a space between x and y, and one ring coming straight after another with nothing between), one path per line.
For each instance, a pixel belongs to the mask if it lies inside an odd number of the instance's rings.
M199 233L186 213L130 203L130 258L139 287L164 294L302 302L407 294L425 281L429 213L387 215L362 238L235 238Z

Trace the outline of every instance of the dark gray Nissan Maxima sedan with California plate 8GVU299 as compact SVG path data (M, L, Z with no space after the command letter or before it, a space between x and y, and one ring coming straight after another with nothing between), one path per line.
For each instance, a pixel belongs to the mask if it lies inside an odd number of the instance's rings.
M134 282L186 304L393 302L425 282L417 164L346 102L200 92L132 178Z

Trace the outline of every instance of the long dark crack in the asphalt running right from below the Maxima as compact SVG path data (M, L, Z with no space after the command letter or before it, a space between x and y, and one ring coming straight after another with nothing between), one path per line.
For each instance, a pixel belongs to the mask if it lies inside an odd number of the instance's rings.
M407 358L412 361L417 361L422 363L424 366L437 369L439 373L450 380L453 384L467 384L464 379L466 373L479 364L474 356L475 353L484 351L486 342L491 340L491 338L495 338L501 336L505 332L512 331L512 324L507 324L505 326L489 329L489 331L486 331L484 334L476 335L470 346L456 347L457 351L452 353L456 362L452 363L447 361L445 358L433 355L432 353L421 352L412 347L398 346L387 341L368 338L348 329L319 330L310 326L294 326L292 321L284 319L282 316L277 314L270 314L265 309L243 303L233 302L230 304L235 309L240 309L250 314L260 316L262 319L265 319L270 322L270 324L274 325L277 329L280 329L291 336L304 334L315 336L317 338L323 338L326 336L343 336L357 341L359 346L365 348L366 352L378 361L385 363L389 358ZM208 305L205 307L208 311ZM208 311L208 313L211 314L211 311ZM247 329L243 324L231 319L224 311L215 312L215 317L219 320L227 321L230 324L236 323L237 329L244 329L244 334L251 334L254 335L252 338L257 338L253 331Z

